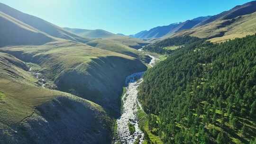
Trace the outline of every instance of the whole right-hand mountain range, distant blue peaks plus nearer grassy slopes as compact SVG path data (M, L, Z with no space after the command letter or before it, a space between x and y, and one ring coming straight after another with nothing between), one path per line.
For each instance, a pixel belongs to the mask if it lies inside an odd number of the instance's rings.
M216 38L214 41L223 41L234 37L243 37L256 32L255 16L256 1L238 5L233 9L224 11L215 16L206 16L173 23L168 26L154 27L150 30L141 31L131 37L141 39L161 38L173 36L191 35L201 38ZM239 17L243 16L243 17Z

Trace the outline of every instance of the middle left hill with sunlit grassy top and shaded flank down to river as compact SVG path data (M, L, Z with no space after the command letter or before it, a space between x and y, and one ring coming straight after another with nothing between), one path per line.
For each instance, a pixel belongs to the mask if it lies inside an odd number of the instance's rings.
M136 58L68 41L4 47L0 51L39 64L40 72L54 81L59 90L89 99L114 112L119 111L119 95L126 76L146 70Z

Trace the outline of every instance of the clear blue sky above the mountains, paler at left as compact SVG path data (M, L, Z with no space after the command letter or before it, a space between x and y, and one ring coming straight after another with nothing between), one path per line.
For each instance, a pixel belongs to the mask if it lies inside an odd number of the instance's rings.
M104 29L126 35L200 16L251 0L0 0L60 27Z

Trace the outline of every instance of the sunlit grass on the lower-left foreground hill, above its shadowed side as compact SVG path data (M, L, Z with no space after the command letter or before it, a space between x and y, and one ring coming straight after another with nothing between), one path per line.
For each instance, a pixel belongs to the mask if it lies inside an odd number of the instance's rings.
M78 99L71 94L36 86L36 79L23 70L24 63L17 58L0 53L0 123L15 125L30 117L37 106L59 96L86 102L91 107L103 109L91 101Z

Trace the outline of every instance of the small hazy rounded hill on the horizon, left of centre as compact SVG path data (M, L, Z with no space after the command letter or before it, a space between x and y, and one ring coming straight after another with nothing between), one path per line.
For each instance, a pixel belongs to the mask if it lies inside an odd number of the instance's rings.
M89 38L108 38L108 37L117 36L113 33L110 33L102 29L89 30L89 29L68 28L68 27L64 27L64 29L78 36L89 37Z

